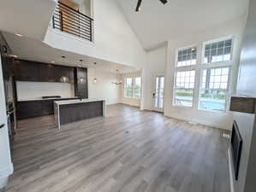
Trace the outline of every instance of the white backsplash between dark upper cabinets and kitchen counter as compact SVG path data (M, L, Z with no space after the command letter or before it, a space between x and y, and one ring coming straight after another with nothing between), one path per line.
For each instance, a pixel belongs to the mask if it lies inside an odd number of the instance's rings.
M74 97L74 84L53 82L16 82L18 101L40 99L42 96Z

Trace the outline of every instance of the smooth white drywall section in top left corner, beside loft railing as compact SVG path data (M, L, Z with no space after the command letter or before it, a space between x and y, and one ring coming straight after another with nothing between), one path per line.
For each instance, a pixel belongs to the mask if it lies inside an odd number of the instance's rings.
M5 0L0 5L0 30L43 40L57 0Z

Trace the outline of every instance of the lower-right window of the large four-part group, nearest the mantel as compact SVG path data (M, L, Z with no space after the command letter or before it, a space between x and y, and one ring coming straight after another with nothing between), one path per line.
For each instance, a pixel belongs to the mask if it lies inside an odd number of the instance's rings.
M199 108L224 111L229 84L229 67L203 70Z

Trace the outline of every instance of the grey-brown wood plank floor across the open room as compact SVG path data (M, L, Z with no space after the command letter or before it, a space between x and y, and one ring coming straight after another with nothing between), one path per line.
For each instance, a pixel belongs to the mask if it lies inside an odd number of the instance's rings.
M19 122L8 192L229 192L223 131L121 104L57 130Z

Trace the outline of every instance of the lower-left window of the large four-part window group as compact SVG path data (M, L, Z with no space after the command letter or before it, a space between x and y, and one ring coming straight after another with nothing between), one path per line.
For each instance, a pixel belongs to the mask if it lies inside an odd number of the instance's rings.
M176 72L174 104L192 107L195 71Z

